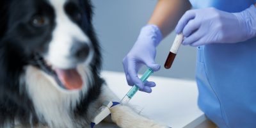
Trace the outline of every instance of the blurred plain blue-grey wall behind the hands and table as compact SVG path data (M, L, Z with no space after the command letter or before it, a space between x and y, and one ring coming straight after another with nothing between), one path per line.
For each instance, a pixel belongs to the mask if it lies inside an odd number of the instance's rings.
M122 59L136 42L141 27L150 19L157 0L92 1L95 6L93 23L102 47L103 70L124 72ZM171 33L157 47L156 62L161 65L161 70L154 76L195 79L195 47L180 47L172 68L164 68L174 38L175 33ZM145 69L142 68L140 73Z

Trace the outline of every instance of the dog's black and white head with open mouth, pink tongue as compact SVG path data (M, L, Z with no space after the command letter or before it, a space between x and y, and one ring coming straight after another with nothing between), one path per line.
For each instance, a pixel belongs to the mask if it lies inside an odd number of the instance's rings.
M1 1L1 54L8 69L33 65L54 77L61 88L76 90L83 81L77 71L100 67L89 0Z

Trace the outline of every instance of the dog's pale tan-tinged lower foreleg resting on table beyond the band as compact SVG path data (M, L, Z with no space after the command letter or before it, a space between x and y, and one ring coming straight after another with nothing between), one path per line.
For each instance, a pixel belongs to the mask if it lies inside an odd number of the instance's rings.
M122 128L167 128L153 120L138 115L131 108L122 105L111 108L111 118L113 122Z

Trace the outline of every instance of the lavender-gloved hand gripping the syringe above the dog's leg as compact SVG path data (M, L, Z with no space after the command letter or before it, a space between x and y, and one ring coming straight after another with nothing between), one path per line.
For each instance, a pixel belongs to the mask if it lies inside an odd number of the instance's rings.
M143 65L152 68L154 72L160 69L160 65L154 60L156 47L161 40L162 34L157 26L150 24L141 29L136 43L123 60L125 76L130 86L136 84L141 91L152 92L151 87L156 86L156 83L149 81L143 83L138 77L138 70Z

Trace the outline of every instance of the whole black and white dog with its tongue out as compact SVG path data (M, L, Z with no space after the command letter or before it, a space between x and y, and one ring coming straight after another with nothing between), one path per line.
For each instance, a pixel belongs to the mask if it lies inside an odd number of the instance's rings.
M118 101L99 76L89 0L1 0L0 10L0 127L88 127L102 102ZM111 118L165 127L122 105Z

